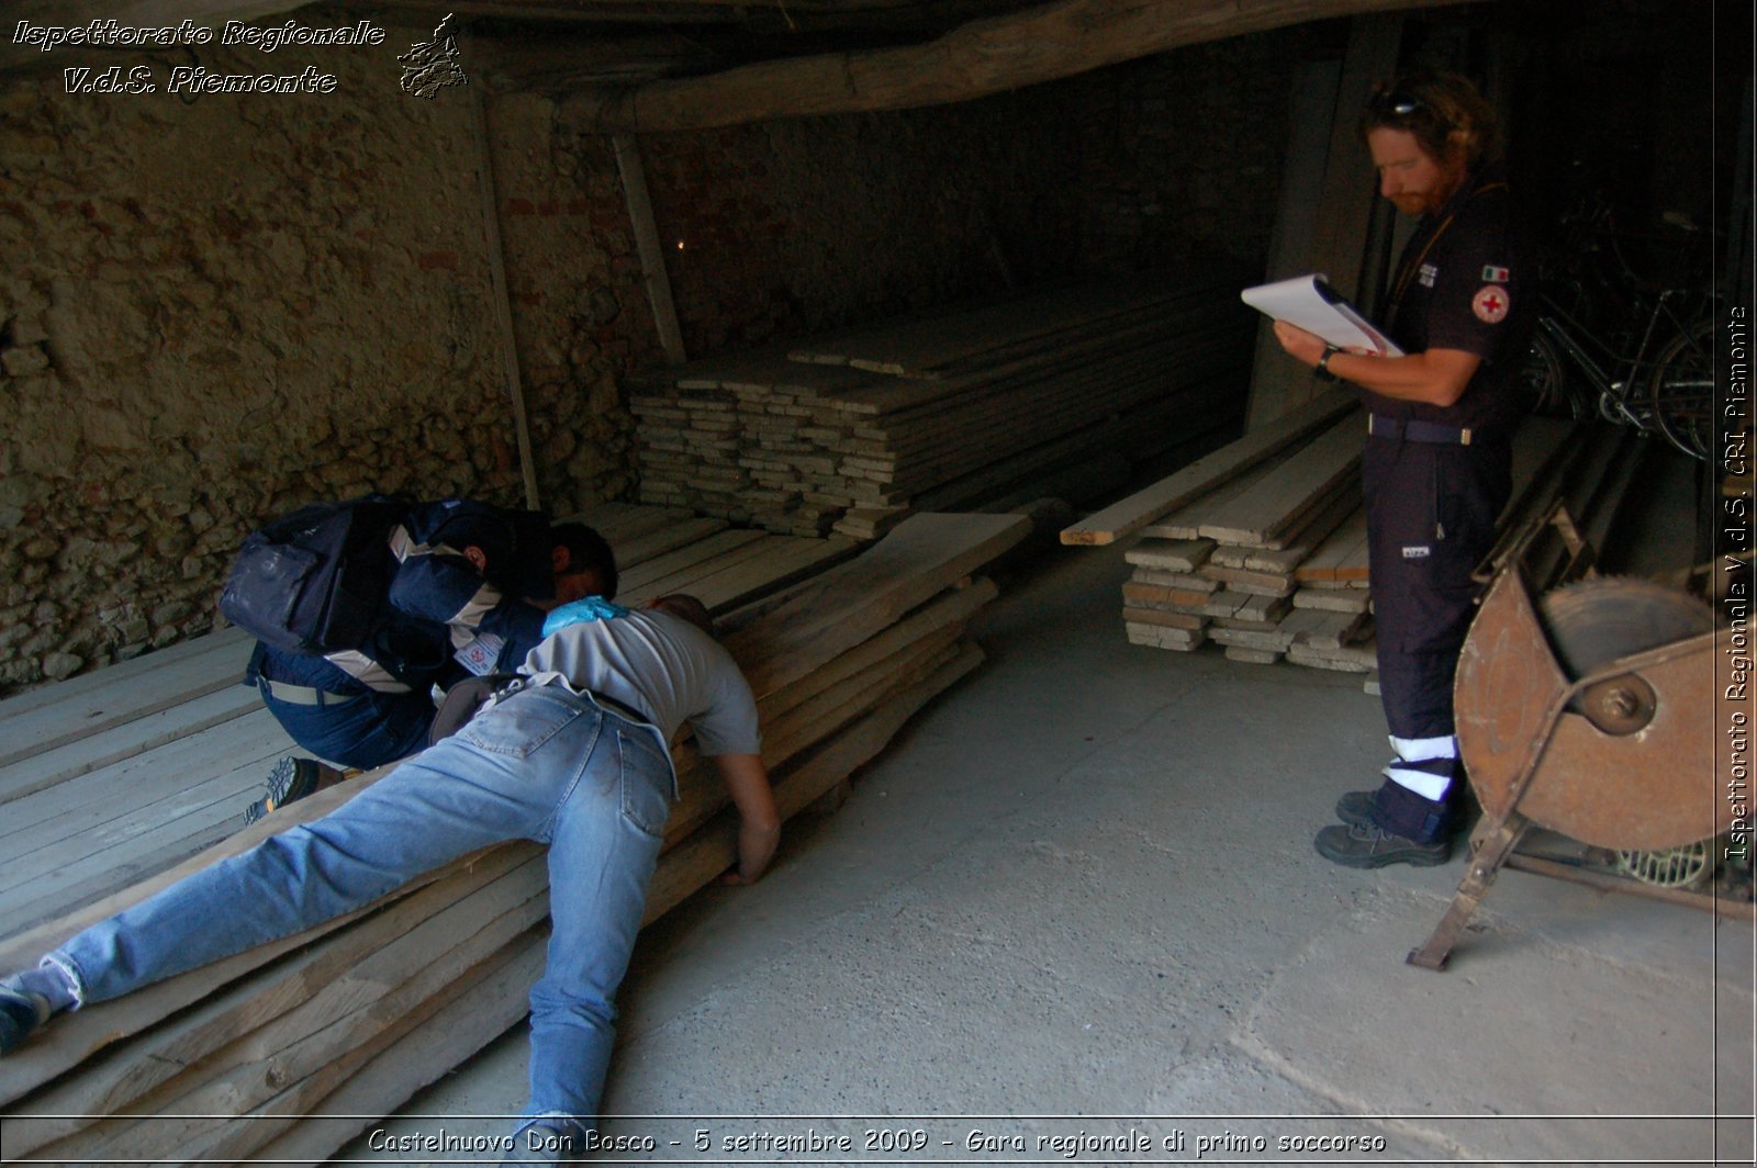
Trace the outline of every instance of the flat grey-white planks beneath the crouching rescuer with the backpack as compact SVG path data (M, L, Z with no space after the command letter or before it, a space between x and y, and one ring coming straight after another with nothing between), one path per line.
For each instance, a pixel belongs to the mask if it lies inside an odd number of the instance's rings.
M852 539L733 530L687 511L599 504L620 595L699 595L726 613L854 553ZM0 936L58 917L232 834L295 752L237 629L0 703Z

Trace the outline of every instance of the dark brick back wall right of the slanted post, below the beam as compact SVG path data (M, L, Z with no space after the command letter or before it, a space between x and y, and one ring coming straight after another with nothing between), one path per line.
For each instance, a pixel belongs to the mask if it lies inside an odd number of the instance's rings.
M1311 46L1283 30L949 107L647 135L685 348L993 295L1003 265L1262 272Z

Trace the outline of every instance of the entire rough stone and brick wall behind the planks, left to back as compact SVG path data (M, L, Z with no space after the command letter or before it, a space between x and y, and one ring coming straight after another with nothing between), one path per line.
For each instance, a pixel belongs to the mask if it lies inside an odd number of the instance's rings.
M418 35L202 49L221 72L316 65L330 95L0 79L0 694L209 629L237 541L315 497L522 501L474 95L397 91ZM1023 283L1214 253L1262 267L1300 46L648 135L685 344L987 295L1001 263ZM488 121L543 502L629 497L620 385L662 357L610 142L536 97Z

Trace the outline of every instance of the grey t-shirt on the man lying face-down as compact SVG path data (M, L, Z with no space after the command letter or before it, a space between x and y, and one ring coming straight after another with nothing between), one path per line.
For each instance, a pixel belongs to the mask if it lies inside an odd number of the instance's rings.
M761 753L757 703L733 655L680 616L636 609L557 629L525 657L536 685L590 690L640 711L669 743L689 722L705 755Z

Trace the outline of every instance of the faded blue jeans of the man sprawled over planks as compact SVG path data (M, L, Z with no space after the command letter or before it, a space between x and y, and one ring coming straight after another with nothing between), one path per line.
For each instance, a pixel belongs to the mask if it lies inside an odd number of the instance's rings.
M118 998L351 912L480 847L548 845L550 941L531 991L525 1115L589 1128L676 780L657 731L527 689L330 815L181 880L51 959ZM524 1126L524 1124L522 1124Z

